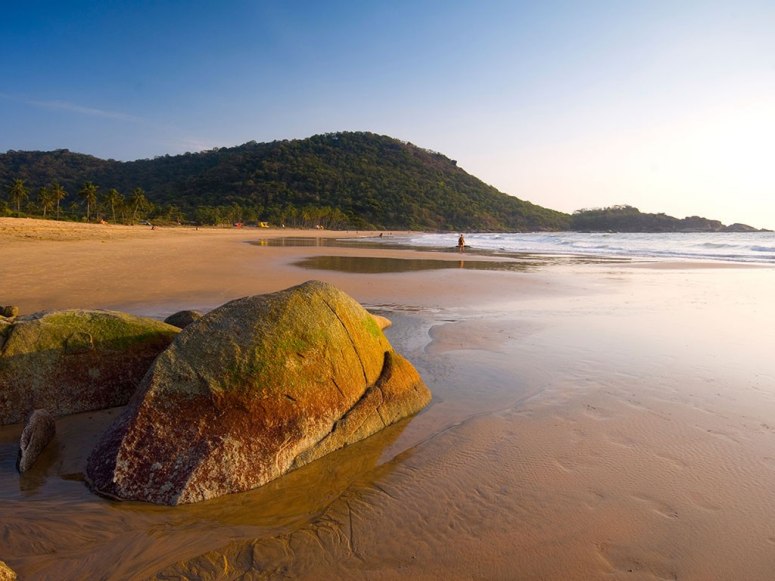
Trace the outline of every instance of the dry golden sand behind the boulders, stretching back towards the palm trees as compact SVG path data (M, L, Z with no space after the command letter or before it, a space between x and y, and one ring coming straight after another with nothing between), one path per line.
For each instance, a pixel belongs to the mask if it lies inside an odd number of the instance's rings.
M462 283L454 269L428 272L423 277L411 273L364 277L292 266L294 261L315 254L460 261L452 253L325 246L328 239L366 235L374 233L151 230L148 226L0 218L0 302L18 305L22 312L88 307L163 314L174 312L178 305L211 309L234 298L280 290L310 278L333 282L373 304L460 305L501 294L488 281L492 277L471 276ZM298 236L311 237L320 246L269 245L272 239ZM265 245L256 246L261 243ZM530 288L541 291L536 284L527 283L524 292Z

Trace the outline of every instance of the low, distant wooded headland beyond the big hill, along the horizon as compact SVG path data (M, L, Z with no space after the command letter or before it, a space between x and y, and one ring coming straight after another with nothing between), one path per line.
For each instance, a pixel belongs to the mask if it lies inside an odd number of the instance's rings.
M666 214L647 214L632 206L611 206L579 210L571 216L570 228L580 232L749 232L745 224L724 226L718 220L699 216L674 218Z

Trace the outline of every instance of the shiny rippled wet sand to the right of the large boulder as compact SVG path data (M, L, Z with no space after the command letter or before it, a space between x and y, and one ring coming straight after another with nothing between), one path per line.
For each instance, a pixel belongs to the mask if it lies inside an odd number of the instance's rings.
M157 578L770 579L775 271L728 272L395 317L434 392L403 452L301 528Z

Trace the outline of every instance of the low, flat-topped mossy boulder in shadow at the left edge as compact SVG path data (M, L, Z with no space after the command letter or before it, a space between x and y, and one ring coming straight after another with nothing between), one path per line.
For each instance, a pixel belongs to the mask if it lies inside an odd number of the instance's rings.
M66 310L0 324L0 425L126 404L180 329L113 311Z

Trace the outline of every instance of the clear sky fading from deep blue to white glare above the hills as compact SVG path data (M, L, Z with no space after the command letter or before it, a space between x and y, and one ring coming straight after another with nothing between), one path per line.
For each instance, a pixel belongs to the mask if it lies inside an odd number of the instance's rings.
M372 131L572 212L775 228L772 0L5 3L0 151Z

